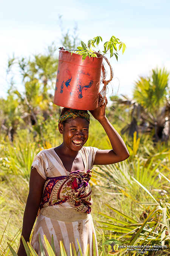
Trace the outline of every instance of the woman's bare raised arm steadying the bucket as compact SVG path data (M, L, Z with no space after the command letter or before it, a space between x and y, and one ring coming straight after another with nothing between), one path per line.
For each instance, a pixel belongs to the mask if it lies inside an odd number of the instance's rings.
M106 105L102 104L95 110L90 111L96 120L103 126L110 140L112 149L97 150L94 165L109 165L121 162L129 157L128 149L122 140L122 137L114 129L105 115Z

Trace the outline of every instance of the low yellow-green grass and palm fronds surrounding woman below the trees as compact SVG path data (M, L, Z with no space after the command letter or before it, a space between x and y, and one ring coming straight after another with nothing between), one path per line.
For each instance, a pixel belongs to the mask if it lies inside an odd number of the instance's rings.
M95 123L97 129L93 128ZM25 130L15 134L13 142L10 142L8 137L1 141L2 255L10 255L7 242L17 251L33 157L41 149L54 147L61 142L56 130L51 129L51 133L51 137L55 137L57 133L57 138L46 140L45 144L38 139L36 141L33 132L29 132L26 137ZM38 134L37 136L39 137ZM101 141L102 136L103 129L92 119L88 144L93 142L93 146L108 148L109 143L105 138ZM133 140L124 137L130 158L114 165L96 166L93 173L92 215L99 243L99 255L103 248L103 232L105 240L111 233L112 238L116 235L116 239L120 239L124 245L165 243L169 246L170 150L168 144L154 144L151 136L143 137L144 135L140 135L136 138L136 133ZM108 245L105 245L105 253L102 255L107 255L108 250ZM169 248L160 252L161 255L169 255Z

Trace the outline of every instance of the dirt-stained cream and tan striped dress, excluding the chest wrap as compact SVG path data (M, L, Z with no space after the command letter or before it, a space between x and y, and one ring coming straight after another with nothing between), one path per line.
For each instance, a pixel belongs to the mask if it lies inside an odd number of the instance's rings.
M83 171L87 172L87 170L91 170L93 168L97 148L83 147L79 152L85 166ZM47 177L59 177L70 174L63 166L62 160L56 154L54 148L40 151L35 157L32 167L36 168L37 172L45 180ZM57 256L60 255L60 241L63 241L68 256L70 256L70 243L74 243L74 247L76 251L78 251L77 239L83 256L85 255L88 244L90 245L90 256L93 256L93 234L95 237L96 252L98 251L91 214L77 212L74 204L71 202L47 206L41 209L31 239L32 247L40 256L39 233L42 241L43 235L45 234L50 244L53 234ZM48 255L46 250L45 253ZM78 256L80 256L80 253Z

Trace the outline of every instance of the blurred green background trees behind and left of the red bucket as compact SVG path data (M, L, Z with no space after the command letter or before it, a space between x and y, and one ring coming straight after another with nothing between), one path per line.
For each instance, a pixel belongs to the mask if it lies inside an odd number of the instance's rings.
M60 22L62 20L60 18ZM77 36L77 25L75 25L73 35L68 30L64 32L62 28L61 43L65 47L76 48L79 41ZM7 68L7 78L10 79L10 90L8 90L7 100L0 99L1 131L9 135L10 140L17 129L28 127L42 136L42 123L47 119L58 118L60 107L53 104L54 88L58 67L58 49L54 42L46 49L45 53L33 55L25 58L9 58ZM15 73L19 71L24 91L20 92L15 86ZM12 79L11 79L12 77ZM12 81L12 82L11 82Z

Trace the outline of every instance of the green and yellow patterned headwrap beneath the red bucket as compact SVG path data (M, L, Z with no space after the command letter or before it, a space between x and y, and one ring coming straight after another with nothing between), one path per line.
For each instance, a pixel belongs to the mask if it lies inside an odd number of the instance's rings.
M77 110L72 108L68 108L66 111L64 110L65 108L63 108L58 120L60 124L68 118L76 119L79 117L85 118L88 122L90 122L90 115L87 113L87 110Z

